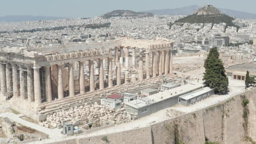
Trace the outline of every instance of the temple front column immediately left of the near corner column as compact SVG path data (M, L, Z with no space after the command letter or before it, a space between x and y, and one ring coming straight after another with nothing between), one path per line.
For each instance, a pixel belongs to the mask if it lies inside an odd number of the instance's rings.
M13 69L14 71L14 69ZM27 99L28 101L34 101L33 85L32 85L32 69L27 67ZM13 91L14 92L14 91Z

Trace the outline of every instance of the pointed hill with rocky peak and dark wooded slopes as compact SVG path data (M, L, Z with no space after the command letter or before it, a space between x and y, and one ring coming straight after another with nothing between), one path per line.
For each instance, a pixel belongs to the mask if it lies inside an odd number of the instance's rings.
M226 23L226 26L235 26L232 22L234 17L220 13L220 11L212 5L205 5L193 14L183 17L174 23Z

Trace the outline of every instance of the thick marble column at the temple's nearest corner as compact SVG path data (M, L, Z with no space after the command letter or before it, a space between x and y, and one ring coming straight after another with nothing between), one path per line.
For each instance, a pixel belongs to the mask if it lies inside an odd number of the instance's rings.
M41 86L40 86L40 67L34 65L34 100L36 104L39 105L42 103L41 97Z

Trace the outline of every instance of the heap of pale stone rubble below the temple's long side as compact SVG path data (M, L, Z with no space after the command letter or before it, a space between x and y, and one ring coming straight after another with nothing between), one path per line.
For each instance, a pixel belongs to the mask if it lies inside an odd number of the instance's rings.
M52 115L48 115L46 121L40 123L44 127L60 127L60 124L64 122L72 122L73 124L89 124L92 123L94 126L103 126L108 124L119 124L124 122L130 122L132 116L124 112L124 108L114 110L107 105L98 105L97 102L94 104L80 105L71 107L68 110L61 110L55 112Z

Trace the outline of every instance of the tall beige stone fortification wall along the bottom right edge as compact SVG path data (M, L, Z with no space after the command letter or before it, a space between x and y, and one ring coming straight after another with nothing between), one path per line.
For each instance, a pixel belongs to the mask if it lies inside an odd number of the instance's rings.
M248 117L243 117L245 106L242 99L249 100ZM219 104L181 115L165 122L156 123L150 127L108 134L109 144L119 143L174 143L186 144L205 143L205 137L219 143L242 143L245 136L255 140L256 127L256 88L238 94ZM248 119L248 127L245 127ZM62 141L59 143L105 143L102 136L86 137L84 139Z

